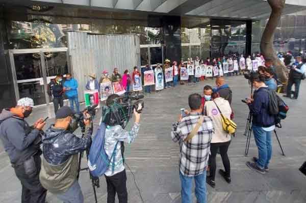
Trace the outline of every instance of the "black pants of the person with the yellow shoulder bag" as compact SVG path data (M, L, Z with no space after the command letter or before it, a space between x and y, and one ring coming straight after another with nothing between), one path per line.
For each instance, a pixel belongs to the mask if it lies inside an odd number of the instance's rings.
M231 163L227 156L228 146L230 146L231 141L228 142L219 142L219 143L211 143L211 155L209 156L209 165L210 165L210 178L215 180L216 176L216 156L217 150L219 148L220 155L222 158L223 166L225 169L225 174L228 177L231 177Z

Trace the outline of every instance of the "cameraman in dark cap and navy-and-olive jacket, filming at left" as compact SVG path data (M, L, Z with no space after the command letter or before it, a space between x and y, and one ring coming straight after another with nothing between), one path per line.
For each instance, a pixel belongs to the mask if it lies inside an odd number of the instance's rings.
M91 144L91 121L84 120L82 138L73 134L78 128L75 112L68 106L57 111L56 122L46 130L40 172L41 185L64 202L83 203L84 198L77 180L79 153ZM86 118L89 114L86 114Z

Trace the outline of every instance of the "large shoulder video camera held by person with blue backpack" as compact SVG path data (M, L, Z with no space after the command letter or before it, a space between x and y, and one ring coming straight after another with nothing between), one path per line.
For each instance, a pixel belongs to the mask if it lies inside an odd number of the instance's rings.
M127 96L115 98L111 106L103 106L102 121L109 126L120 125L125 128L133 116L134 108L138 113L141 113L144 107L142 98L143 95L132 96L131 93ZM141 108L138 109L140 105Z

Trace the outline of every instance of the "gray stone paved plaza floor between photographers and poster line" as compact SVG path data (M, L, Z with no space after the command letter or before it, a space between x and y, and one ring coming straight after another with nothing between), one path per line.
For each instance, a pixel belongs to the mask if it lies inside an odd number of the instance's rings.
M216 188L208 188L208 202L306 202L306 177L298 171L306 161L306 83L302 82L298 100L285 99L290 106L288 118L283 128L277 129L286 156L282 156L277 140L273 135L273 157L270 171L266 175L250 170L245 162L257 156L257 148L252 138L249 156L244 156L246 137L243 135L248 115L248 108L241 99L248 97L250 89L247 80L242 76L226 78L233 90L233 109L235 122L238 125L236 137L232 139L228 156L232 167L232 183L227 184L220 175L216 175ZM171 124L177 120L180 108L188 108L188 95L202 93L203 86L214 85L209 79L196 85L179 85L160 93L145 96L145 109L142 113L139 137L130 145L126 144L126 163L135 174L144 202L179 203L181 202L179 178L179 144L171 140ZM100 113L98 113L99 115ZM53 107L34 109L29 118L32 123L39 117L49 116L47 125L54 122ZM99 117L99 116L97 116ZM98 118L95 123L98 122ZM96 127L96 126L95 126ZM127 127L129 128L129 127ZM7 154L0 145L0 202L20 202L21 185L15 177ZM83 166L86 160L83 159ZM217 156L217 169L223 168L220 156ZM127 190L130 203L140 203L139 192L135 186L130 170L127 170ZM85 202L94 202L91 181L88 172L82 171L80 183ZM193 190L194 191L194 190ZM106 181L100 178L97 189L98 202L107 202ZM196 202L193 194L193 202ZM59 202L48 193L48 202Z

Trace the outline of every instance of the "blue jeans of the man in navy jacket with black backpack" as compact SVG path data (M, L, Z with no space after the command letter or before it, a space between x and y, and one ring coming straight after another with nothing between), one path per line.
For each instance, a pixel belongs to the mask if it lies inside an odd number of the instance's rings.
M252 126L254 139L258 148L257 165L261 169L268 167L272 156L272 131L264 131L262 127Z

